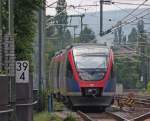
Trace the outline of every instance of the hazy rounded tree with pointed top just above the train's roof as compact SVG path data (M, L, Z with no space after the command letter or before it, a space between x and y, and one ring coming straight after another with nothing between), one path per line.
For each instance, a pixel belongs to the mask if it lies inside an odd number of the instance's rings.
M80 33L80 42L81 43L88 43L95 39L95 33L88 28L87 26L83 29Z

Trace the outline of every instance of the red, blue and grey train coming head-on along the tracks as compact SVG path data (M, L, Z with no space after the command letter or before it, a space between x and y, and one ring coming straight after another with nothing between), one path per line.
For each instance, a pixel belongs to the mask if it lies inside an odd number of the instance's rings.
M56 53L50 64L50 88L73 106L109 106L115 91L114 56L99 44L76 44Z

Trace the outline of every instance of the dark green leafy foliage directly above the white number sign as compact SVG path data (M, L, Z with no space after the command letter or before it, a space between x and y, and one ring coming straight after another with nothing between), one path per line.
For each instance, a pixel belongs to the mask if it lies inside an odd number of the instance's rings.
M38 10L42 0L16 0L14 28L16 33L15 51L17 60L32 62L33 41L35 37L35 11Z

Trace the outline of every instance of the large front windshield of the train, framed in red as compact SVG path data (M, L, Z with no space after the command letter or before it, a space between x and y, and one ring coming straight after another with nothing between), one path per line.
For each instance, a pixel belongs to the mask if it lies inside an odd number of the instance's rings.
M93 49L93 48L92 48ZM107 70L107 56L98 52L80 50L74 51L74 61L82 80L102 80Z

